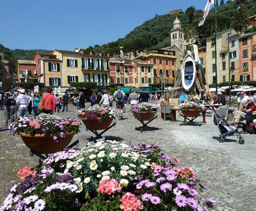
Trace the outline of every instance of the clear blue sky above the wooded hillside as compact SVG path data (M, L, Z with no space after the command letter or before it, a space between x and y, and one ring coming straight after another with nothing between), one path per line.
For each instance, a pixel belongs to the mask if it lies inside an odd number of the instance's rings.
M191 5L204 10L206 2L2 0L0 43L12 50L87 48L123 38L156 14L167 14L177 8L185 12Z

